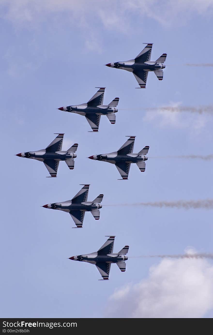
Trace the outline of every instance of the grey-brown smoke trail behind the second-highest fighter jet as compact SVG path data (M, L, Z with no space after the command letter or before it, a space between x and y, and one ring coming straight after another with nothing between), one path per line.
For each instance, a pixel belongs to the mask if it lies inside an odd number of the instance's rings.
M149 107L146 108L147 111L167 111L167 112L191 112L191 113L213 113L213 106L207 105L207 106L200 106L200 107L194 107L194 106L163 106L163 107Z

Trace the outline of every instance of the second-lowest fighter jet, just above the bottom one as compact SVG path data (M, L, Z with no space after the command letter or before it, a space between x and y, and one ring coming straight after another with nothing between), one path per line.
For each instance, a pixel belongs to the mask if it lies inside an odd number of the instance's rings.
M80 184L83 185L83 184ZM71 199L64 202L56 202L53 204L44 205L44 208L58 209L67 212L71 215L76 227L82 228L85 212L91 212L95 220L100 219L100 205L103 200L103 194L99 194L93 201L87 201L90 185L84 185L82 189Z

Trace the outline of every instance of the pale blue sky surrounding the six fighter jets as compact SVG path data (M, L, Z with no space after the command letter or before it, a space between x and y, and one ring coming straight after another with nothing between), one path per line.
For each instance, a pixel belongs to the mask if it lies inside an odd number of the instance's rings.
M113 317L112 305L122 317L126 287L131 292L132 285L141 282L150 285L150 294L163 305L162 283L168 273L174 289L163 295L171 296L172 305L167 302L161 314L149 303L146 312L131 305L125 315L212 317L213 302L206 298L213 292L209 260L170 260L166 269L171 267L171 271L166 271L165 260L132 258L125 273L114 265L110 280L103 282L98 281L95 266L67 259L98 250L105 235L116 235L115 252L129 245L129 256L181 254L188 247L211 252L210 210L103 206L99 221L86 213L83 229L73 231L69 215L40 207L71 199L83 183L91 184L88 200L103 193L103 204L212 198L211 160L160 158L212 154L212 114L159 112L157 108L212 105L212 67L184 64L212 62L213 2L132 0L121 4L1 1L1 134L7 158L1 164L2 317L102 318L110 313ZM163 81L150 73L147 88L140 90L135 89L138 83L132 74L103 64L134 58L144 42L153 43L152 60L167 53L168 66ZM85 118L57 108L87 102L95 86L106 87L105 104L118 96L121 110L115 125L102 117L99 132L89 133ZM78 143L73 171L61 162L57 178L46 179L42 163L15 156L46 147L58 132L65 133L64 149ZM114 166L86 157L117 150L125 135L136 136L134 152L149 145L148 156L159 159L148 159L143 174L132 164L129 180L118 181ZM152 289L153 266L161 279L165 277L164 281L155 276L158 293ZM185 269L191 266L186 279ZM201 280L193 285L196 274ZM191 295L183 294L175 286L177 281ZM119 297L115 297L117 291ZM201 293L194 301L197 291ZM178 303L172 294L180 296ZM183 315L184 304L188 308ZM203 308L189 312L190 304ZM168 316L171 310L174 313Z

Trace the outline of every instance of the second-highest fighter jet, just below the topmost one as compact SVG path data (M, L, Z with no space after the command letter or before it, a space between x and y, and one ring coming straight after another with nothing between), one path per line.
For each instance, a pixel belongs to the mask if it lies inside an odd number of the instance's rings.
M99 88L99 90L93 95L88 103L58 108L60 111L85 116L92 128L92 132L98 131L101 115L106 115L111 124L115 124L115 113L118 111L116 107L119 102L119 98L114 98L109 105L103 105L105 87L96 88Z

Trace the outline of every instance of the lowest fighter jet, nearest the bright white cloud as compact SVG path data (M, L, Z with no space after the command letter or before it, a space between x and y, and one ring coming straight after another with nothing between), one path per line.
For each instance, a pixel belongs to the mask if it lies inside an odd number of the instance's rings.
M104 280L109 279L109 271L112 263L117 264L121 272L126 270L125 261L128 259L126 256L129 246L123 247L117 254L113 254L115 236L109 236L109 239L103 244L103 246L92 254L78 255L69 257L73 261L87 262L95 264L98 271L100 272ZM103 280L99 279L99 280Z

